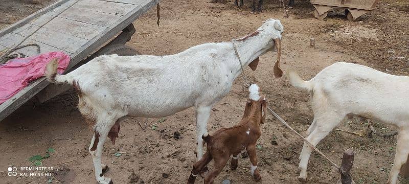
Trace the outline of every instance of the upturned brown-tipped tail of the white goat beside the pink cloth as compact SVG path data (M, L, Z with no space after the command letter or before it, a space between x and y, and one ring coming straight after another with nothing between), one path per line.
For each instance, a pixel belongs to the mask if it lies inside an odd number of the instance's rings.
M59 58L54 58L47 63L46 69L44 70L44 77L46 77L49 82L55 84L71 83L72 79L70 81L68 76L57 73L58 60Z

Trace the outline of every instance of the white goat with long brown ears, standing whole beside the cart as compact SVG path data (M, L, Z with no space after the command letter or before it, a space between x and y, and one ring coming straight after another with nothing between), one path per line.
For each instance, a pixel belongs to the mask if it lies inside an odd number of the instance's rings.
M276 77L281 51L280 20L268 19L254 33L234 42L205 43L168 56L100 56L69 74L56 74L57 62L47 65L46 77L53 83L73 84L79 96L80 112L92 122L94 136L89 146L95 177L112 183L101 169L106 137L115 144L120 119L165 117L196 107L197 159L202 157L212 106L229 93L241 74L241 65L256 69L258 58L278 48ZM235 54L234 47L241 58Z

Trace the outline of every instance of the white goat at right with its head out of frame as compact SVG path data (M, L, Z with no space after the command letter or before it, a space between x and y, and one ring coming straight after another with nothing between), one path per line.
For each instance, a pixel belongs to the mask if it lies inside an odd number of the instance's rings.
M346 116L361 116L395 125L398 141L388 183L397 182L400 167L409 154L409 77L394 76L358 64L337 62L303 81L289 73L291 85L311 91L314 120L307 140L317 145ZM299 179L306 180L312 148L304 143L300 154Z

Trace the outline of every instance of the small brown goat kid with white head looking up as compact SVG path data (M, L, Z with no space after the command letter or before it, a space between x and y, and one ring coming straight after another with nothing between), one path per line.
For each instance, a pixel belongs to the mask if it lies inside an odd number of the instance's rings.
M265 97L262 96L257 84L252 84L248 90L249 99L244 108L243 118L237 126L219 129L213 135L207 132L203 134L203 140L208 144L207 151L203 158L193 165L188 184L195 182L196 176L212 159L214 159L214 168L206 175L205 184L213 183L228 162L230 155L233 155L230 168L236 170L238 155L244 150L247 151L252 163L252 176L256 181L261 180L257 170L256 143L261 135L260 123L264 124L267 106Z

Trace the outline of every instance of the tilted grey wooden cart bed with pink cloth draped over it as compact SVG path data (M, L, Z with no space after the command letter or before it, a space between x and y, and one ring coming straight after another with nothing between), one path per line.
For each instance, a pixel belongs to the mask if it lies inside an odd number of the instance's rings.
M0 32L0 51L37 43L41 53L63 51L70 55L66 71L116 36L160 0L60 0ZM18 50L36 55L33 47ZM32 82L0 105L0 121L50 83Z

